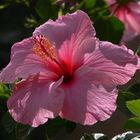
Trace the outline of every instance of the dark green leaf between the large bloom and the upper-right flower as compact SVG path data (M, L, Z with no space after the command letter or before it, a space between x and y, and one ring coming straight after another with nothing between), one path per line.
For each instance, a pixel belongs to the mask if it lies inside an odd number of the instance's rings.
M117 18L113 16L105 17L101 15L95 20L94 26L97 37L100 40L110 41L115 44L120 43L124 25Z

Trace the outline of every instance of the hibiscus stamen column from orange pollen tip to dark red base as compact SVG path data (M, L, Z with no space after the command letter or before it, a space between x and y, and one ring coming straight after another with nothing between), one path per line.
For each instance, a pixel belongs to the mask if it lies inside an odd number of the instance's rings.
M65 64L63 61L58 58L55 46L52 42L50 42L49 39L44 37L43 35L37 35L33 38L34 45L33 45L33 51L36 55L41 57L43 60L50 59L52 62L55 62L55 64L58 66L58 68L61 70L61 73L59 76L64 76L63 82L68 83L72 80L72 73L69 72L69 69L67 67L67 64Z

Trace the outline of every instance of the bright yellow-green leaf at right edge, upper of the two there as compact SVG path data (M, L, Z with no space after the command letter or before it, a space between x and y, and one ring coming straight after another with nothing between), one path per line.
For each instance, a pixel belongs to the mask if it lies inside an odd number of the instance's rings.
M140 117L140 99L128 101L126 105L133 114Z

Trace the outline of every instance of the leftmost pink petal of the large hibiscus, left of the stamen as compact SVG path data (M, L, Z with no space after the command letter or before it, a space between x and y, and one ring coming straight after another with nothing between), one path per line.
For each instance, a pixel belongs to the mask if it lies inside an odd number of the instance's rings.
M11 83L16 78L27 78L29 74L47 71L40 58L32 51L33 41L25 39L13 45L11 61L0 73L0 81Z

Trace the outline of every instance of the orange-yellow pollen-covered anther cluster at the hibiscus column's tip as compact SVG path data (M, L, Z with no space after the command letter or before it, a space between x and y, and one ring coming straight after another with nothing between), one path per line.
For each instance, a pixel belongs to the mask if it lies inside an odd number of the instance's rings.
M44 37L43 35L35 36L34 38L33 51L36 55L40 56L42 59L52 59L57 58L54 45Z

